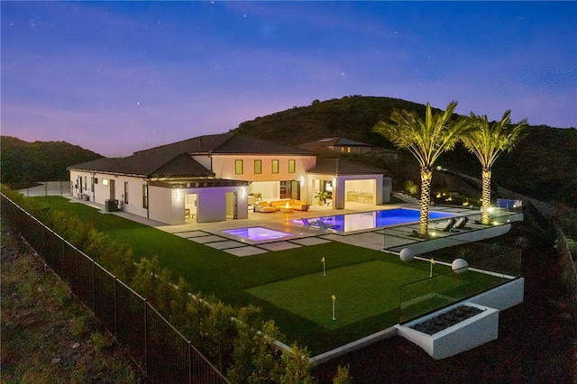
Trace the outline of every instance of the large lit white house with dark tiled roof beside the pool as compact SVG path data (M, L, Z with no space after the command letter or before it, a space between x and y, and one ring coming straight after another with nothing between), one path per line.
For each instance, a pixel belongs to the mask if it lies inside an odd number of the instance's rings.
M336 209L346 206L348 192L371 192L371 197L355 200L366 204L389 201L389 179L383 182L382 169L344 160L331 165L317 160L314 152L235 133L200 136L68 169L74 196L107 208L117 200L125 212L165 224L248 218L256 200L312 204L318 190L332 190Z

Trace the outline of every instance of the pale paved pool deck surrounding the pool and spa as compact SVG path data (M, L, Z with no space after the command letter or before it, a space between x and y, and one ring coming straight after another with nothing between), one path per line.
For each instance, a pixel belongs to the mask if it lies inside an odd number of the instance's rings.
M105 212L104 206L75 198L71 198L70 201L94 206L100 209L103 214L119 215L141 224L156 227L161 231L173 233L191 242L202 243L238 257L251 256L270 251L282 251L326 242L343 242L375 251L389 251L392 253L398 253L403 248L413 248L418 253L420 251L432 251L459 242L479 241L481 239L499 236L500 234L508 232L509 222L522 220L522 215L512 214L505 218L501 217L499 224L489 226L472 224L477 220L481 220L481 211L478 209L459 206L431 206L432 211L448 212L456 216L465 215L469 218L469 222L463 230L443 232L438 230L437 227L444 223L446 218L433 220L429 224L430 237L428 239L417 239L413 235L413 232L418 231L418 224L400 224L386 228L367 229L354 233L337 233L332 230L322 230L313 226L307 227L290 223L291 219L299 219L301 217L314 218L319 215L346 215L393 208L411 208L418 210L418 203L413 201L384 206L347 203L347 209L339 210L331 209L327 206L310 206L308 211L293 211L289 213L260 213L250 211L248 219L234 220L230 218L226 221L216 223L196 223L188 219L186 224L180 225L162 224L123 211ZM293 236L270 241L253 242L239 236L223 233L224 230L252 226L261 226L275 231L292 233Z

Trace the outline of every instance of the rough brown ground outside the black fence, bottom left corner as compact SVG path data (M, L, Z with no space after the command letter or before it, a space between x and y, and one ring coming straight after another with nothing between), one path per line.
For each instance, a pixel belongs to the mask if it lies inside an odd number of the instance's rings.
M143 382L69 287L2 224L0 382Z

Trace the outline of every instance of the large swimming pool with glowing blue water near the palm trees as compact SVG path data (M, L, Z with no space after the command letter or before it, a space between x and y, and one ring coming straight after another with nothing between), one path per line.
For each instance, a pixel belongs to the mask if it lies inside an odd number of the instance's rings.
M395 208L386 209L382 211L362 212L358 214L321 216L309 218L308 222L311 225L318 220L322 220L327 228L333 228L337 232L353 232L366 229L374 229L391 225L399 224L414 224L419 221L419 211L417 209ZM442 219L445 217L452 217L454 214L446 212L430 212L429 220ZM303 225L300 219L293 219L292 224Z

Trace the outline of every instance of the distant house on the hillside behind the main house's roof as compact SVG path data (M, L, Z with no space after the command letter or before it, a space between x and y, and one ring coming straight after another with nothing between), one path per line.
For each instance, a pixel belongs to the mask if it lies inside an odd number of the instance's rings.
M398 160L398 151L387 150L366 142L356 142L344 137L329 137L315 142L305 142L298 145L298 148L316 153L357 153L378 156L385 160Z

